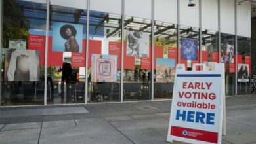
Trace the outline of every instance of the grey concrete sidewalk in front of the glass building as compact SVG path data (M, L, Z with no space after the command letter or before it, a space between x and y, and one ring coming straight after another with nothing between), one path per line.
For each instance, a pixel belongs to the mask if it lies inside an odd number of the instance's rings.
M0 143L167 143L171 101L0 108ZM222 143L256 143L256 95L226 98Z

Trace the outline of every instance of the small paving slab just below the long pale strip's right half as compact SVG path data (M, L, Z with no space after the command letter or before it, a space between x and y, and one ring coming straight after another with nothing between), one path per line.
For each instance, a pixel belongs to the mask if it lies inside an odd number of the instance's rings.
M58 126L75 126L74 120L59 120L43 122L43 128L58 127Z

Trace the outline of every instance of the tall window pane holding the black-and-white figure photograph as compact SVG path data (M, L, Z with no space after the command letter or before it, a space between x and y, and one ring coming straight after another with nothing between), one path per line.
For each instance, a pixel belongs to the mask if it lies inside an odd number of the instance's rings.
M125 16L124 21L124 101L149 100L152 22L131 16Z

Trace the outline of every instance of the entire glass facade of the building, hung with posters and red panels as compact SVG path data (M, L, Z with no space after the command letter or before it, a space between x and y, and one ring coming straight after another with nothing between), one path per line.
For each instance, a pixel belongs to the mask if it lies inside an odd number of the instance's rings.
M120 14L95 10L95 1L92 10L87 1L0 1L0 105L171 99L177 63L188 71L225 63L226 96L249 94L248 37L154 20L150 11L133 16L124 4Z

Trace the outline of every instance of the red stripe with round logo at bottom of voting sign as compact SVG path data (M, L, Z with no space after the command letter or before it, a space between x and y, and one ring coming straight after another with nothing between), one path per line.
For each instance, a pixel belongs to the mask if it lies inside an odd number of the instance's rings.
M204 130L195 130L191 128L171 126L171 135L187 139L194 139L198 141L206 141L209 143L218 143L217 132L209 132Z

